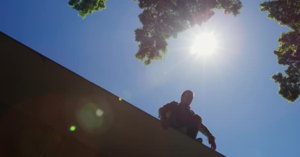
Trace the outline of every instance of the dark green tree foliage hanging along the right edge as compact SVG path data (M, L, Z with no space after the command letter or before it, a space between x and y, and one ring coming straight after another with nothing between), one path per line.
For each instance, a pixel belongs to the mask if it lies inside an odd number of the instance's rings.
M289 102L295 102L300 96L300 0L263 2L261 10L268 12L268 18L291 28L281 34L279 46L274 51L278 64L287 66L286 75L278 73L272 79L279 83L278 94Z

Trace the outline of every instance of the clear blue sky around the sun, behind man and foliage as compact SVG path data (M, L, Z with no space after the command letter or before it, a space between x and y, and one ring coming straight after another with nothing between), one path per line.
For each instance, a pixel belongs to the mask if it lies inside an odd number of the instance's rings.
M170 39L168 55L148 68L134 56L142 10L133 0L108 0L107 9L84 20L68 0L1 0L0 31L154 117L160 106L192 90L191 108L225 156L300 157L299 101L283 100L270 79L284 70L272 52L289 29L260 12L263 0L242 2L237 17L217 11ZM189 48L204 31L216 35L217 51L195 57Z

